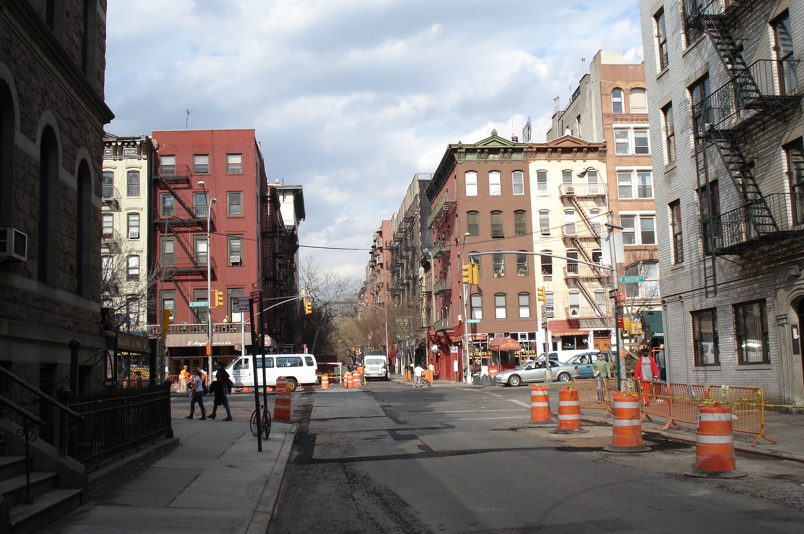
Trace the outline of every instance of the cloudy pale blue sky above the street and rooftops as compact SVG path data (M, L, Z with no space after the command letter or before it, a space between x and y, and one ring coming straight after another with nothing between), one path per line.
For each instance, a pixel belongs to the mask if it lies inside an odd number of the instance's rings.
M544 142L601 49L642 62L638 0L109 0L106 131L255 128L300 243L363 249L301 254L363 278L414 174L527 117Z

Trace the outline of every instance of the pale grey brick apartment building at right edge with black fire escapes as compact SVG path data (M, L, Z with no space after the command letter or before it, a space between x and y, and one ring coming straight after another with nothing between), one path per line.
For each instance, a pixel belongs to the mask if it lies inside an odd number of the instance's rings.
M804 6L640 2L672 381L804 402Z

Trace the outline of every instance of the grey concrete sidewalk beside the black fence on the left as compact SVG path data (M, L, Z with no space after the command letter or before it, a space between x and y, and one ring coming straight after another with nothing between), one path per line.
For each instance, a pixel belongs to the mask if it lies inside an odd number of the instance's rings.
M185 399L187 397L184 397ZM232 417L184 418L189 402L173 402L179 445L93 491L89 502L44 528L59 534L265 534L281 487L296 425L274 422L263 451L248 429L253 397L234 395ZM211 399L206 399L210 401ZM273 396L269 399L273 401ZM211 402L205 402L207 414Z

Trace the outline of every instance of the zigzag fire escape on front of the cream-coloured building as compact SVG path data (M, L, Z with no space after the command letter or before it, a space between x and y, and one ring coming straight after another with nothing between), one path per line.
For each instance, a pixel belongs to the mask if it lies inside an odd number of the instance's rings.
M597 174L593 175L596 179ZM559 197L564 207L576 213L576 222L565 222L561 226L564 246L578 253L578 259L599 263L601 261L601 212L605 212L605 184L599 181L589 183L561 184ZM593 216L592 210L597 210ZM580 220L579 220L580 218ZM597 253L596 253L597 251ZM569 253L568 253L569 255ZM608 298L602 303L595 299L595 291L611 286L609 271L585 263L567 262L564 267L564 280L569 289L577 289L585 297L587 306L570 305L567 317L572 319L596 319L609 316Z

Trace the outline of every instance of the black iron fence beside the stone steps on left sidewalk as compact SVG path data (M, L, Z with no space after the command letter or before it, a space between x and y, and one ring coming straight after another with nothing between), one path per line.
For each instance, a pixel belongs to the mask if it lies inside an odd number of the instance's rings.
M169 384L80 393L68 406L84 420L68 431L67 452L84 465L173 436Z

